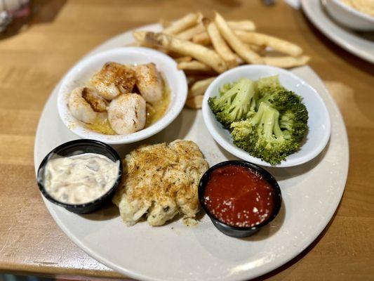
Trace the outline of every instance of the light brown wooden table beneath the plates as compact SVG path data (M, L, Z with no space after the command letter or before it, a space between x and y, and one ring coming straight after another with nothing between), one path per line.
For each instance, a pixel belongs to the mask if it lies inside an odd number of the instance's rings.
M260 0L34 1L29 26L0 37L0 270L121 278L76 247L48 214L34 174L39 115L62 75L102 41L161 17L215 9L227 18L252 18L259 30L302 46L335 88L349 135L347 186L330 225L300 256L260 280L373 280L374 65L277 2L268 8Z

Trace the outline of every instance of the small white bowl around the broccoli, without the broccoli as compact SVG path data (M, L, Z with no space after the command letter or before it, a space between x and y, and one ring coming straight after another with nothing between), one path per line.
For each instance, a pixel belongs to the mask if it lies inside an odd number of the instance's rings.
M234 145L231 134L215 119L215 115L208 105L208 98L217 96L220 87L224 84L238 81L241 78L258 80L262 77L273 75L279 75L279 81L282 86L302 97L302 103L307 107L309 115L309 131L300 150L289 155L286 160L276 165L253 157L245 150ZM203 118L209 132L215 141L222 145L222 148L225 148L225 150L236 157L262 166L283 168L304 164L322 152L330 137L330 117L328 116L328 110L316 90L307 81L300 79L300 77L292 72L269 65L243 65L220 74L206 90L203 100Z

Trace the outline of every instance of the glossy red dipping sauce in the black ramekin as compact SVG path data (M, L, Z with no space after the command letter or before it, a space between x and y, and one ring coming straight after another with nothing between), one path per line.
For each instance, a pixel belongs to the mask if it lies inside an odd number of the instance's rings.
M272 185L258 171L227 165L211 172L203 202L218 221L249 228L271 216L275 196Z

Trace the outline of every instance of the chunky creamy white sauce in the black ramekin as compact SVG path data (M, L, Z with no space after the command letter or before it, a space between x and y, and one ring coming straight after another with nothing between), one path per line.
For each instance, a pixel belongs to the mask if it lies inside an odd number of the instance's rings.
M116 182L119 161L104 155L84 153L47 162L44 188L53 199L84 204L104 195Z

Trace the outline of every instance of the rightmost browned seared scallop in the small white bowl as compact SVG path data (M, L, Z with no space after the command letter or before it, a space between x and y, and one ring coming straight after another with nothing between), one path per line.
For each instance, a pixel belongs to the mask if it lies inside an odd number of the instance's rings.
M138 65L135 67L136 86L142 97L148 103L155 103L161 100L163 92L163 83L161 74L157 71L154 63L147 65Z

